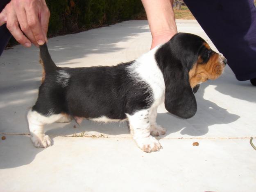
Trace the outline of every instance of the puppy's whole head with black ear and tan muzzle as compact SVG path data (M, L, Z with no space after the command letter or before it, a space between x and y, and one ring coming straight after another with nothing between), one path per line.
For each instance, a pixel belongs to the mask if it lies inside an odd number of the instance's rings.
M159 47L156 62L165 80L165 108L182 118L190 118L197 111L193 93L199 84L217 79L227 59L211 50L199 36L178 33Z

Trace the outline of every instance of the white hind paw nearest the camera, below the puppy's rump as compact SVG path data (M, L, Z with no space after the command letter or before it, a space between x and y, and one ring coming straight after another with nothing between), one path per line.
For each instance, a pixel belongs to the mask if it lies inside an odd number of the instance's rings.
M39 133L31 133L30 139L35 147L43 147L46 148L52 145L52 140L48 135Z

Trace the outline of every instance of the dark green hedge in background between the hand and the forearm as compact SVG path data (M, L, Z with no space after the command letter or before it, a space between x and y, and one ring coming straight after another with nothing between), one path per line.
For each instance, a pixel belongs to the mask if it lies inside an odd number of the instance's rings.
M68 34L133 19L140 0L46 0L51 17L48 34Z

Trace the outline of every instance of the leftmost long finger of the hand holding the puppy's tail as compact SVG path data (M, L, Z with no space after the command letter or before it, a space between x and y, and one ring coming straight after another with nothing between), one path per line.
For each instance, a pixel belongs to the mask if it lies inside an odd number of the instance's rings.
M23 32L20 30L18 26L18 19L14 11L14 8L8 4L5 7L5 9L7 13L7 29L11 32L11 34L20 44L24 45L25 47L30 47L31 42L23 34Z

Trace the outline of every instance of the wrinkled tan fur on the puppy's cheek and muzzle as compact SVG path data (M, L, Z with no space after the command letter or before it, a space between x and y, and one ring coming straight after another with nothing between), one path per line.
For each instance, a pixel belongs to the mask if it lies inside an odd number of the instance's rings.
M208 62L202 63L202 59L199 56L197 63L195 64L196 67L193 66L189 72L190 86L194 88L197 84L201 84L208 79L214 80L220 77L225 68L223 58L222 54L213 52Z

